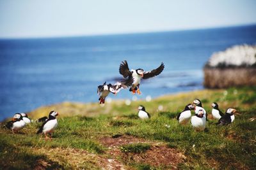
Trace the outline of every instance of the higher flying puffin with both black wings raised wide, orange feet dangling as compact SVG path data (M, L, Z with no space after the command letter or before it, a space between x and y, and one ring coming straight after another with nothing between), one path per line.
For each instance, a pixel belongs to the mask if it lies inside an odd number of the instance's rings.
M119 67L119 73L124 76L124 78L134 78L134 82L132 83L132 87L130 88L130 92L132 94L135 94L136 92L138 94L141 94L140 92L140 80L141 78L147 79L147 78L152 78L154 76L159 75L164 69L164 64L163 62L157 69L153 69L152 71L147 71L145 72L143 69L129 69L128 63L126 60L124 60Z

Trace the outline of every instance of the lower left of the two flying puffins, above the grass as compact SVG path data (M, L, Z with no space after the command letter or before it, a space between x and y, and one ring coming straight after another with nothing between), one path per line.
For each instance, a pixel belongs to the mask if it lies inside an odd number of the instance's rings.
M97 89L97 94L100 96L99 97L100 104L105 103L105 99L108 96L109 92L116 95L121 89L127 89L127 87L131 86L132 82L133 82L133 79L128 78L127 80L116 82L115 85L112 85L112 84L106 85L106 81L103 85L99 85Z

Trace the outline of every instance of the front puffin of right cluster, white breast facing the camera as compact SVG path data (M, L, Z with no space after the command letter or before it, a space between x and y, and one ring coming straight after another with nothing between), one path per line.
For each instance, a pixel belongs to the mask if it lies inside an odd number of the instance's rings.
M206 126L204 110L200 109L195 112L195 116L191 117L191 124L196 131L204 131Z

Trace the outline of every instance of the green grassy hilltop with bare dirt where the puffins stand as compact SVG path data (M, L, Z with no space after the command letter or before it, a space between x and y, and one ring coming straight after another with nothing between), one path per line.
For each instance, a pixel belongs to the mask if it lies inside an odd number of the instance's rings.
M230 125L207 122L204 132L179 125L176 116L195 98L211 113L236 108ZM150 120L137 117L145 106ZM160 106L160 107L159 107ZM162 110L163 109L163 110ZM60 103L31 111L39 118L56 110L53 139L36 135L39 123L12 134L1 124L0 167L3 169L254 169L256 167L256 88L201 90L159 97L150 102Z

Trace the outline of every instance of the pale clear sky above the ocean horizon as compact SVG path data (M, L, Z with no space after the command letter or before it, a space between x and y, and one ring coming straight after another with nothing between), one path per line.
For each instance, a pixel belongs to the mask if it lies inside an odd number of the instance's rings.
M0 38L172 31L256 24L254 0L0 0Z

